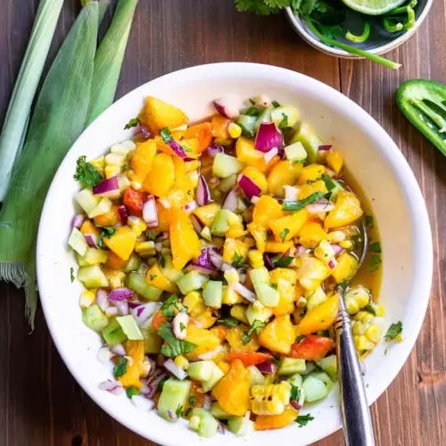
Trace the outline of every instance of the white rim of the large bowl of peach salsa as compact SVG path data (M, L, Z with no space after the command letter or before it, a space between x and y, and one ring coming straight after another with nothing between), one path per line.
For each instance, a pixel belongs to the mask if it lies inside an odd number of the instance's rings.
M401 187L401 192L405 198L405 202L410 209L410 217L414 226L414 246L418 254L417 258L420 259L417 264L417 275L415 276L414 283L412 285L412 294L417 293L419 296L419 301L417 302L417 312L412 317L413 323L411 329L405 333L404 343L399 344L398 350L396 350L395 354L392 356L392 368L387 370L387 373L383 376L383 380L380 380L379 384L376 385L376 388L373 389L374 392L368 395L368 404L371 405L392 383L395 376L400 372L417 340L417 335L419 334L423 324L425 311L429 302L434 260L430 223L427 210L425 208L423 195L421 194L417 184L417 179L415 178L412 170L409 168L409 164L405 160L401 151L392 141L392 138L385 132L384 128L382 128L376 122L376 120L374 120L368 114L367 111L360 108L358 104L354 103L347 96L335 90L335 88L329 87L317 79L310 78L301 73L258 63L220 62L173 71L169 74L161 76L160 78L155 78L152 81L145 83L141 87L137 87L127 95L120 98L120 100L114 103L107 111L104 111L103 114L101 114L95 120L95 122L91 124L90 128L95 127L98 122L106 122L108 117L112 116L112 113L114 113L115 110L120 109L120 104L128 100L129 95L133 96L132 99L134 99L137 95L144 95L145 87L148 85L154 89L158 86L164 87L166 85L176 85L176 83L179 85L181 85L183 82L188 84L191 82L191 80L193 81L192 83L196 83L198 79L203 78L231 79L234 77L262 79L265 81L269 80L274 82L282 81L285 84L293 83L294 85L306 83L307 86L314 89L313 91L318 91L318 95L320 95L319 97L323 96L326 102L331 103L331 105L334 107L339 107L344 114L346 113L346 110L350 109L351 112L349 114L349 119L354 121L357 120L359 126L365 128L364 131L367 132L368 136L376 140L376 150L379 150L384 154L385 162L392 167L395 177L398 178L398 185ZM171 89L171 87L169 88ZM79 140L80 143L78 143ZM379 140L379 145L377 144L377 140ZM79 136L78 141L71 147L70 152L76 152L78 145L82 147L82 135ZM146 439L165 446L180 446L184 443L184 441L181 438L175 439L169 436L169 434L166 434L166 430L161 427L161 424L157 425L156 428L153 426L153 429L148 431L145 427L138 425L136 421L132 419L131 415L124 413L124 411L119 410L116 405L110 404L108 400L99 397L98 394L95 394L91 389L91 386L87 383L87 378L85 377L85 374L82 373L83 370L80 370L75 360L71 358L69 346L62 344L61 340L58 338L54 316L51 313L51 298L49 298L49 292L51 291L49 284L54 278L52 276L53 264L45 263L46 255L50 257L50 254L47 254L47 248L48 243L52 240L52 238L51 234L46 230L46 228L51 227L53 216L52 208L57 206L56 202L52 199L52 196L56 194L56 190L60 187L59 183L66 181L67 168L69 167L70 171L72 170L72 166L70 165L71 160L67 160L67 158L70 158L68 154L62 161L62 164L57 170L54 180L49 188L37 235L37 282L40 292L40 301L48 329L52 335L56 349L59 351L63 362L70 370L71 375L76 379L84 392L87 392L88 396L95 401L95 403L101 409L103 409L109 416L120 422L120 424L125 425L128 427L128 429ZM325 438L326 436L333 434L340 427L341 425L339 424L335 425L335 427L330 426L327 432L321 430L321 434L318 435L318 438L311 438L311 441L316 442L322 438ZM197 442L193 443L196 445L201 444L201 439L197 436ZM221 443L218 442L218 444Z

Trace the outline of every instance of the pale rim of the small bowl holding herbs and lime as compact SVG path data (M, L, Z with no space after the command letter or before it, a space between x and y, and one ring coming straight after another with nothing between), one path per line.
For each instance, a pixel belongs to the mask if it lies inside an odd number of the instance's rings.
M427 0L423 11L416 21L416 25L412 29L409 29L409 31L405 32L400 37L395 38L391 42L385 45L376 46L376 48L368 50L368 52L376 55L388 53L409 40L409 38L412 37L417 32L418 28L423 24L433 4L434 0ZM322 51L325 54L335 55L336 57L342 59L365 59L365 57L359 56L357 54L347 53L341 48L333 48L331 46L323 44L320 40L318 40L318 38L314 37L312 33L310 33L303 27L301 19L294 15L293 9L290 6L287 6L285 8L285 13L288 17L288 21L290 21L293 29L297 32L297 34L299 34L308 44L318 49L319 51Z

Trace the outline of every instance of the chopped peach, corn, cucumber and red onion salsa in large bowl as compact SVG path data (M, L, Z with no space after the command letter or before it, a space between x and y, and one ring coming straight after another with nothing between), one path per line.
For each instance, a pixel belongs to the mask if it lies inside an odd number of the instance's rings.
M383 337L381 245L343 157L266 95L208 120L155 97L132 139L78 159L69 244L83 320L112 366L108 392L188 420L202 437L278 429L336 381L337 285L360 359ZM71 281L75 271L71 269Z

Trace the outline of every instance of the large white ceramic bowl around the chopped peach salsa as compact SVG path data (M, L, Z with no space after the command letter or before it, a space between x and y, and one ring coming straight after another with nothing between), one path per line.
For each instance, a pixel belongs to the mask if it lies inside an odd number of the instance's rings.
M111 378L96 354L99 336L84 326L78 307L81 286L71 284L70 268L77 268L67 249L72 197L78 192L73 179L76 161L93 159L112 144L131 136L124 125L135 117L145 95L155 95L200 120L213 111L211 100L236 93L244 97L265 93L279 103L293 104L327 142L335 141L345 161L373 200L384 249L381 302L386 324L401 320L404 342L392 345L384 356L380 345L367 360L368 401L372 403L391 384L417 339L429 300L433 248L425 202L409 165L384 129L366 111L331 87L299 73L252 63L218 63L180 70L136 88L105 111L78 138L58 169L46 197L37 240L37 276L46 322L62 359L88 395L111 417L153 442L167 446L197 446L204 442L186 422L168 423L155 412L136 409L125 394L119 397L98 389ZM385 370L385 373L383 373ZM62 391L62 389L61 389ZM305 411L302 411L305 413ZM205 443L223 446L309 444L341 426L335 392L310 409L314 421L246 438L217 435ZM229 437L229 435L231 435Z

